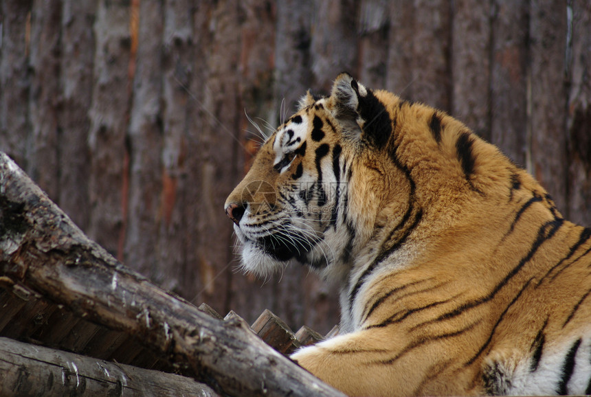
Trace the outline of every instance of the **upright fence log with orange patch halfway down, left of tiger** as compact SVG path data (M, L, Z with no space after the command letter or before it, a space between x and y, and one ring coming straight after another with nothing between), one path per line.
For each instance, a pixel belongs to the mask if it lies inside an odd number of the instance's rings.
M191 297L194 289L203 288L197 277L194 252L194 229L197 208L194 203L200 177L193 170L193 157L199 154L188 145L192 136L188 121L192 113L199 112L190 99L194 93L189 84L199 79L203 65L195 57L199 38L206 34L193 30L193 19L208 14L208 1L199 1L198 9L188 0L166 0L163 11L164 30L161 36L161 164L158 168L161 186L158 192L157 244L154 247L153 268L148 275L162 286L183 296ZM203 14L202 14L203 13ZM146 26L146 28L148 28ZM199 65L199 66L197 66ZM179 236L182 236L179 238ZM145 252L144 252L145 254ZM147 259L146 259L147 261ZM166 269L162 264L166 263ZM147 269L146 269L147 270Z

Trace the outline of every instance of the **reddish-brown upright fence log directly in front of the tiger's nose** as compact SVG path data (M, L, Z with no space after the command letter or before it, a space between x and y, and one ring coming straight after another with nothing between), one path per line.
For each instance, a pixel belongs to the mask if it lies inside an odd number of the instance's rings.
M195 59L203 70L196 71L188 86L194 102L187 131L187 171L193 182L183 192L185 216L190 219L190 238L185 242L190 266L186 266L181 282L192 302L208 302L225 313L234 256L232 223L222 217L223 202L240 172L239 121L244 109L236 95L240 90L236 70L243 10L233 1L206 1L203 7L207 13L200 10L199 24L195 22L197 32L203 32L195 49ZM199 280L198 286L194 280Z

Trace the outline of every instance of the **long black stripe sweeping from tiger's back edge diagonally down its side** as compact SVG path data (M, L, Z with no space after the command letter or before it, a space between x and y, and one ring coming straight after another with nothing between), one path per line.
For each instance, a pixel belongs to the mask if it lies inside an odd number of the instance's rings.
M534 256L534 254L536 253L536 251L542 245L542 243L545 242L546 240L550 240L550 238L552 238L554 236L554 234L556 233L556 231L561 227L561 225L563 223L564 223L564 219L555 219L555 220L550 220L547 223L544 223L544 225L542 225L542 227L539 228L539 230L537 232L537 238L533 242L532 247L529 250L529 252L527 253L527 255L524 256L524 258L522 258L520 260L520 262L517 264L517 266L515 266L504 277L504 279L501 280L495 286L495 288L493 288L493 290L489 293L489 295L480 297L479 299L474 299L474 300L469 301L469 302L465 302L465 304L462 304L461 306L458 306L454 310L451 310L451 311L449 311L447 313L444 313L443 315L437 317L436 319L425 321L422 324L418 324L418 325L414 326L413 328L411 328L411 330L414 330L414 329L419 328L421 326L426 326L427 324L432 324L432 323L436 323L438 321L443 321L443 320L451 319L453 317L456 317L456 316L464 313L465 310L469 310L471 308L475 308L476 306L480 306L481 304L484 304L486 302L489 302L491 299L493 299L493 297L495 297L495 295L497 295L497 293L501 290L501 288L503 288L507 283L509 283L509 281L517 273L519 273L519 271L522 269L522 267L527 262L529 262L529 260L531 260L531 258Z

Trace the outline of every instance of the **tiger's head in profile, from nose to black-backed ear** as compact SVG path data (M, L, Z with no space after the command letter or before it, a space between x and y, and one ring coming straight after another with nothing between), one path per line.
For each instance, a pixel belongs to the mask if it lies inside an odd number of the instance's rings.
M364 133L368 125L377 133ZM375 163L375 147L386 144L390 131L383 104L346 73L330 97L307 93L225 202L242 243L243 268L266 275L296 260L344 277L353 239L359 244L372 234L386 183L379 178L386 170L375 170L375 183L361 181L367 178L355 175L355 163ZM410 190L408 183L399 188Z

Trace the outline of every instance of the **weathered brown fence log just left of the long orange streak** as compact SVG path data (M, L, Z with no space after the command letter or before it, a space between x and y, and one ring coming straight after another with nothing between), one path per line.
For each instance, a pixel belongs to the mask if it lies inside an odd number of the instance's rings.
M122 255L129 152L125 135L129 118L131 57L129 3L97 2L90 109L90 236L113 255Z

